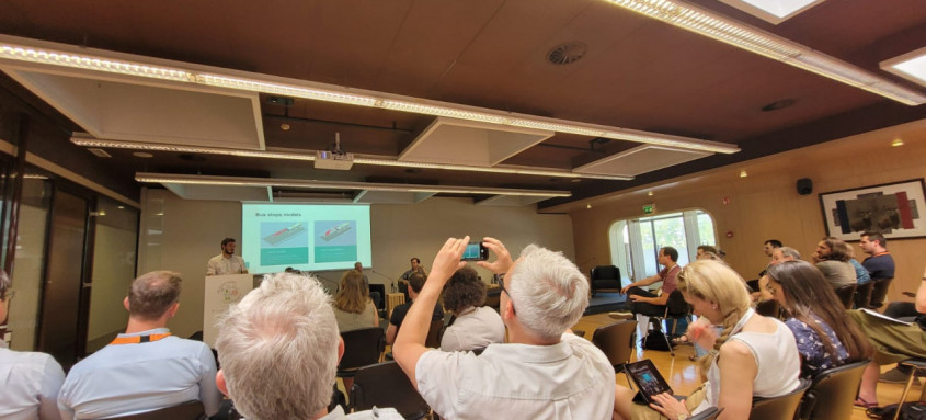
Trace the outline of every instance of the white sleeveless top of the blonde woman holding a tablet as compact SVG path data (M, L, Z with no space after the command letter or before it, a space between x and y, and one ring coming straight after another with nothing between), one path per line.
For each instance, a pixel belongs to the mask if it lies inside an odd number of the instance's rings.
M750 309L734 331L742 329L753 311ZM800 385L801 356L794 334L784 322L774 319L777 329L771 333L734 332L731 339L746 344L755 357L756 377L753 379L753 397L777 397L794 390ZM739 327L739 328L738 328ZM694 410L697 415L720 401L720 368L717 361L710 365L705 386L705 400Z

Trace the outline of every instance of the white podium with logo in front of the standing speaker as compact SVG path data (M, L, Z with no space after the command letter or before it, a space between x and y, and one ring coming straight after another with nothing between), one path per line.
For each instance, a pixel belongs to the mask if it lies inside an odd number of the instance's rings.
M251 274L207 275L203 291L203 342L215 348L218 327L216 321L231 304L241 300L254 288Z

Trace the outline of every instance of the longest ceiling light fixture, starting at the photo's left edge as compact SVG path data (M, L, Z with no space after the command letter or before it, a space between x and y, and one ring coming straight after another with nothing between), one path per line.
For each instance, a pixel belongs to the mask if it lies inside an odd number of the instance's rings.
M144 63L148 60L170 64L176 67L149 65ZM734 154L740 151L740 148L735 145L720 141L708 141L690 137L649 133L615 126L503 112L485 107L432 101L362 89L352 89L334 84L316 83L298 79L286 79L268 75L227 70L188 63L159 60L103 49L77 48L64 44L0 35L0 63L3 61L31 64L33 67L38 65L66 67L76 70L102 71L112 75L151 78L179 83L203 84L237 91L267 93L357 106L379 107L434 116L447 116L503 126L538 128L557 133L569 133L588 137L604 137L693 150L705 150L721 154Z

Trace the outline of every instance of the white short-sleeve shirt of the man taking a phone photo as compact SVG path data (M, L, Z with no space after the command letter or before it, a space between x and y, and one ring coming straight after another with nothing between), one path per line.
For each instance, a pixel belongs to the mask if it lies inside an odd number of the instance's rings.
M614 413L614 367L571 333L553 345L490 344L479 356L428 351L415 376L419 393L444 419L594 420Z

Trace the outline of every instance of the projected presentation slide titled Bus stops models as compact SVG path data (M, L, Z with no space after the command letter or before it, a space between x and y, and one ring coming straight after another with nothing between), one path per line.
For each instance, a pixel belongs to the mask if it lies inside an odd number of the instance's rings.
M255 274L370 266L369 206L242 204L238 249Z

